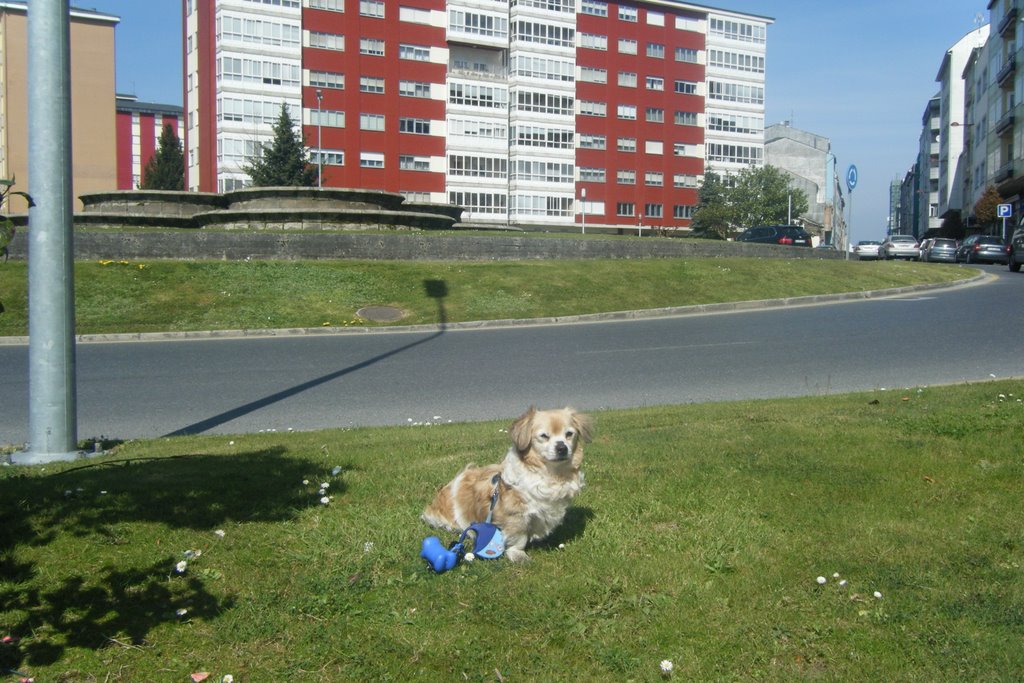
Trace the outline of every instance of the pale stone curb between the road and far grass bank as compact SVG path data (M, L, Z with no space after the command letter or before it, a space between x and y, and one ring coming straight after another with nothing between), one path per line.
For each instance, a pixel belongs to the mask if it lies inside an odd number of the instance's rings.
M193 339L259 339L274 337L301 337L314 335L356 335L356 334L394 334L416 332L439 332L445 330L489 330L498 328L536 327L546 325L572 325L581 323L606 323L614 321L639 321L655 317L675 317L682 315L706 315L711 313L730 313L746 310L764 310L768 308L784 308L795 306L813 306L843 301L863 301L865 299L883 299L914 294L919 292L935 292L939 290L956 289L973 285L981 285L995 280L987 272L979 272L974 278L953 283L934 283L928 285L909 285L886 290L868 292L843 292L840 294L813 294L802 297L782 299L762 299L756 301L732 301L726 303L694 304L690 306L667 306L663 308L643 308L639 310L620 310L606 313L585 313L581 315L555 315L550 317L504 318L497 321L470 321L466 323L445 323L431 325L392 325L386 327L319 327L319 328L279 328L265 330L200 330L191 332L138 332L99 335L77 335L76 341L82 344L122 343L122 342L157 342L182 341ZM0 337L0 346L27 345L28 337Z

